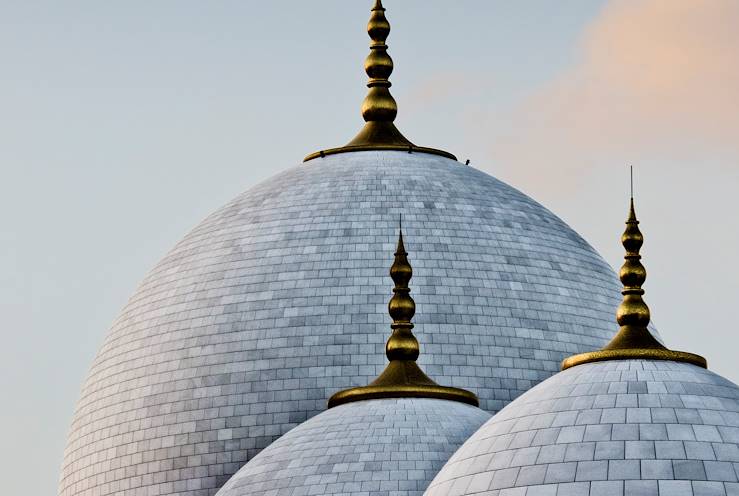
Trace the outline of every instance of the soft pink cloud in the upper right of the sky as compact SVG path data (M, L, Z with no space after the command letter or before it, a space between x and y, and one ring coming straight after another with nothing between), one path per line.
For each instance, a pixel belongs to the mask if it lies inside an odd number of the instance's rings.
M552 163L572 184L605 163L739 157L737 26L736 0L611 1L576 64L513 110L495 162L524 182L533 164Z

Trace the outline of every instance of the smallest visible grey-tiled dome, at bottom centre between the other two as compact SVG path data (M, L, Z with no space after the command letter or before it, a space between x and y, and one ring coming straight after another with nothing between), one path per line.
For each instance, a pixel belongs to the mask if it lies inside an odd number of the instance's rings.
M265 448L217 496L420 495L488 418L479 408L438 399L346 403Z

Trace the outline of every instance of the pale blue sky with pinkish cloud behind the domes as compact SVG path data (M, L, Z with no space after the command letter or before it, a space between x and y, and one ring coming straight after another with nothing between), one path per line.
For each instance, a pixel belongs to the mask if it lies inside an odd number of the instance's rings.
M613 266L739 382L739 2L386 0L396 123ZM0 0L0 474L54 494L105 333L208 213L360 129L370 0ZM11 449L7 449L10 447Z

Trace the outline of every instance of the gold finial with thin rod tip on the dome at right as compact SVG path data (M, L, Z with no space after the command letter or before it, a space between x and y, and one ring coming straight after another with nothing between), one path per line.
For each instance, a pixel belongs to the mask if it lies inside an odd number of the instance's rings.
M620 329L603 349L566 358L562 362L562 370L583 363L624 359L672 360L707 368L706 359L702 356L685 351L669 350L647 329L651 316L649 307L642 298L644 296L642 285L647 279L647 270L642 265L639 254L644 244L644 236L639 230L639 220L636 218L634 209L633 175L631 188L629 217L626 220L626 230L621 236L621 244L626 249L626 256L624 256L625 262L619 274L624 285L621 291L624 296L623 301L616 311L616 320Z

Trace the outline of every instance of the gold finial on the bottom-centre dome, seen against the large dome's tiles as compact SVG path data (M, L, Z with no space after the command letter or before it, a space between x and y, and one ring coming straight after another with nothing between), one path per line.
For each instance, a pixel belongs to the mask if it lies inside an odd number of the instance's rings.
M416 313L416 303L411 298L408 286L412 276L413 269L408 262L401 230L398 235L398 247L395 250L395 261L390 268L390 277L395 282L393 297L388 303L388 311L393 319L390 325L393 332L385 345L385 353L390 363L368 386L346 389L331 396L328 400L329 408L377 398L437 398L479 405L477 396L473 393L438 385L416 363L420 350L418 340L411 332L413 329L411 319Z

